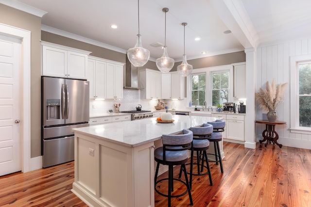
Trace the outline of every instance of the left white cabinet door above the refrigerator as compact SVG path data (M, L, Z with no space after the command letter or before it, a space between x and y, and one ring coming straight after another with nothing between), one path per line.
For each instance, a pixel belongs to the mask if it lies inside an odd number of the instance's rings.
M42 46L42 73L67 78L67 50Z

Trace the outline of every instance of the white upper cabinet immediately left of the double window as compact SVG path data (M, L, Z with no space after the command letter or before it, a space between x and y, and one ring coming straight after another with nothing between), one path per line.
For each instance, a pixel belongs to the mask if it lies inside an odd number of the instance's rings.
M171 73L171 98L185 98L185 78L179 73Z

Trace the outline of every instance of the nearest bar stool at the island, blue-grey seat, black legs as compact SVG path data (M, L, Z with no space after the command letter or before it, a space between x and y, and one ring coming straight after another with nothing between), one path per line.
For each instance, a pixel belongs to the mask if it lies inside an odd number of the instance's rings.
M190 191L190 185L188 181L187 171L185 163L188 160L188 149L192 148L193 133L188 129L183 130L183 134L163 134L162 143L163 146L155 149L155 161L156 170L155 170L155 191L162 196L168 197L168 206L171 207L171 198L180 197L185 195L187 192L189 194L190 205L193 205L192 196ZM191 151L193 154L193 150ZM169 176L168 178L163 178L160 180L157 179L157 174L159 170L159 165L168 165L169 167ZM185 180L173 178L173 166L181 165L182 171L185 175ZM156 189L156 184L162 182L163 180L168 180L168 194L164 194ZM178 195L172 195L173 192L173 181L178 181L186 185L187 190Z

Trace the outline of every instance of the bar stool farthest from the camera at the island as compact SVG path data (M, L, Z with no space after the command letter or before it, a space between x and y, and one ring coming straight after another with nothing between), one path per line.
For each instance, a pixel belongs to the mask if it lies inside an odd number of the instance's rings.
M222 156L220 154L220 147L219 147L219 142L222 141L223 135L221 132L225 131L225 121L224 120L215 120L213 122L207 122L207 124L211 124L213 126L213 133L210 138L208 138L209 142L214 143L214 150L215 154L208 153L208 155L214 155L215 156L215 161L211 162L216 162L218 165L218 162L220 164L220 171L224 173L223 169L223 162L222 162ZM205 126L206 124L203 124Z

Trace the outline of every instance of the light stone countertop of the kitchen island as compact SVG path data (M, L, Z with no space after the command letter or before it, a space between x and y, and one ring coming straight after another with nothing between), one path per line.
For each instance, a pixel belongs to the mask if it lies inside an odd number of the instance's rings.
M208 121L216 120L215 117L173 115L173 123L157 123L156 118L118 122L73 129L75 132L104 139L112 143L136 147L138 145L154 142L162 134L181 132L190 127L202 126Z

